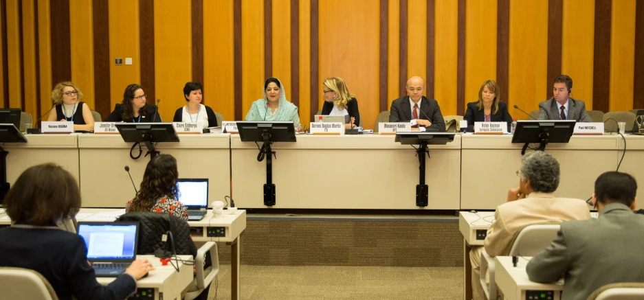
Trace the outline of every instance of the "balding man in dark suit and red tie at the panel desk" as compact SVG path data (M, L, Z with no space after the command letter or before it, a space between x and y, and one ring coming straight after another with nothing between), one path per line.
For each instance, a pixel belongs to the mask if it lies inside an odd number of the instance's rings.
M389 122L410 122L415 120L419 128L445 131L445 119L441 108L434 99L423 96L425 80L414 76L407 80L407 96L391 103ZM413 123L413 122L412 122Z

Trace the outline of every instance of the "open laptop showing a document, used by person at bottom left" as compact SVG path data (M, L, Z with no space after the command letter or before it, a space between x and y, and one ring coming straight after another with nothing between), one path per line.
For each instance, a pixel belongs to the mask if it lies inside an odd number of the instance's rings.
M139 222L78 222L96 277L117 277L136 259Z

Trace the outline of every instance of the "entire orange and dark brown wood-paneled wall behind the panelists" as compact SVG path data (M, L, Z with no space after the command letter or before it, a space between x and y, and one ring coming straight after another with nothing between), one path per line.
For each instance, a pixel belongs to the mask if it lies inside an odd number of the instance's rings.
M588 109L644 108L644 0L0 0L0 30L0 106L34 119L63 80L103 117L140 83L164 120L200 81L205 104L243 119L267 76L303 124L331 76L365 128L414 75L443 115L463 115L487 79L532 111L560 73Z

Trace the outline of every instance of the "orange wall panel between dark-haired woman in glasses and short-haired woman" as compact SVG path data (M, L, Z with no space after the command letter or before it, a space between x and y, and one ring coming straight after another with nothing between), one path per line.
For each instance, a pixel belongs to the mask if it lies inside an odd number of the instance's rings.
M192 3L155 1L154 14L155 93L162 100L159 115L170 121L186 105L183 89L192 81Z

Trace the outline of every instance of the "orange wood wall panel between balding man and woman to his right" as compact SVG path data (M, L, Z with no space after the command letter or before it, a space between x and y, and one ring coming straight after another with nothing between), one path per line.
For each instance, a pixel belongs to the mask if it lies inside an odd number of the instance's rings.
M434 98L443 115L456 115L458 1L436 1L434 36Z

